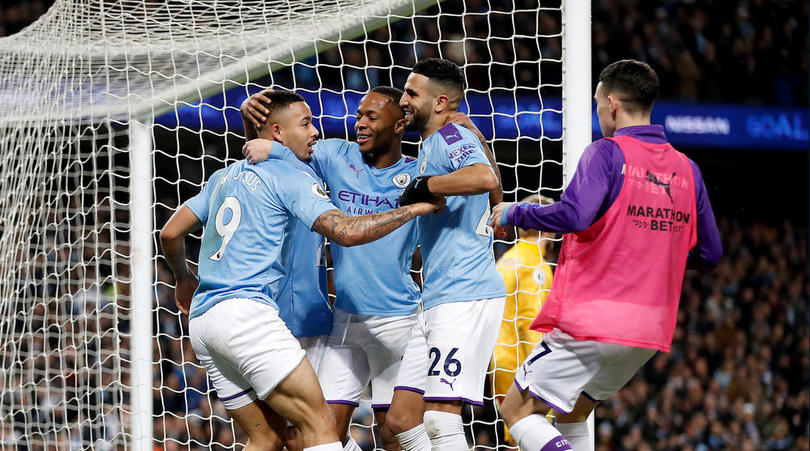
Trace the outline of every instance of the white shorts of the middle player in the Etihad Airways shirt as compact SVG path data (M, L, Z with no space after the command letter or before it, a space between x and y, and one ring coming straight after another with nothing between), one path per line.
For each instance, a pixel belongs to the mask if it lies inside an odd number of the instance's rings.
M416 321L416 312L385 317L335 309L318 368L326 402L357 406L370 383L372 408L388 408Z

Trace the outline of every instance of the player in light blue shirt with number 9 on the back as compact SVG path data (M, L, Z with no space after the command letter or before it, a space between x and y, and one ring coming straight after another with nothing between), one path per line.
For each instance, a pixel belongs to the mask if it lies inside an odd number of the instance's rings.
M278 122L274 112L296 117L288 130L295 135L291 150L308 158L317 130L303 98L278 102L272 110L270 123ZM276 449L286 429L279 417L298 427L304 449L342 449L315 373L278 317L288 222L300 220L342 245L359 245L439 209L441 199L433 201L348 217L292 164L242 161L216 171L167 222L161 243L177 280L178 307L189 314L194 352L220 400L248 434L246 449ZM197 279L186 264L184 238L203 224L200 281L192 296Z

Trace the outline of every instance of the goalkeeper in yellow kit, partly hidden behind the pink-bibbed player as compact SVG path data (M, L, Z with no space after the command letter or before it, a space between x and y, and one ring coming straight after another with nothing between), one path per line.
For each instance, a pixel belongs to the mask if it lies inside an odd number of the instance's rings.
M521 202L554 203L548 197L536 194ZM545 255L552 243L547 238L554 236L553 233L518 229L518 242L496 263L507 293L501 333L490 363L492 392L498 407L515 379L518 366L543 338L542 333L529 329L529 325L537 317L551 289L553 274ZM505 427L504 432L507 442L512 443Z

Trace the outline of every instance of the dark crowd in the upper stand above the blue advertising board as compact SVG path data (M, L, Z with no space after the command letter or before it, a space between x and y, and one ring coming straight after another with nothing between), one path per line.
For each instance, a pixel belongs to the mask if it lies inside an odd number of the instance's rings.
M51 3L4 1L0 36L19 31ZM558 4L544 2L537 14L528 12L535 0L449 0L420 13L415 45L411 23L395 22L366 42L344 43L294 71L280 71L276 81L307 89L325 81L334 84L330 88L358 92L392 82L403 86L417 56L439 56L441 39L448 41L441 44L444 57L466 63L473 90L539 86L559 95L561 19L553 10ZM440 11L445 16L436 19ZM593 78L609 62L634 58L658 73L663 99L806 106L807 17L808 4L800 1L593 2ZM538 56L539 68L532 62ZM391 77L393 65L398 68Z

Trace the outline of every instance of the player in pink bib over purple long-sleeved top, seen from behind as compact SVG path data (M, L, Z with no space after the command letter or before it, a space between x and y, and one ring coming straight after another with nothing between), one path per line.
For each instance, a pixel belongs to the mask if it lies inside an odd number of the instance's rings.
M493 211L494 226L566 234L551 294L532 323L548 334L501 406L522 449L593 449L590 412L656 351L669 351L685 268L720 260L700 170L650 125L657 95L647 64L607 66L594 95L606 138L585 149L560 202ZM549 409L556 428L543 416Z

